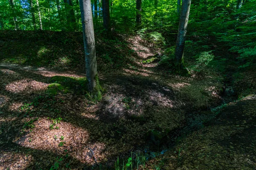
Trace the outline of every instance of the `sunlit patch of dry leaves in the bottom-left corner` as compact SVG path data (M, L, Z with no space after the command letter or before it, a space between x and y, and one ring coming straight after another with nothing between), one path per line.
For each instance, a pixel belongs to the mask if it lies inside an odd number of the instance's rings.
M0 151L0 170L26 170L26 167L33 161L29 154Z

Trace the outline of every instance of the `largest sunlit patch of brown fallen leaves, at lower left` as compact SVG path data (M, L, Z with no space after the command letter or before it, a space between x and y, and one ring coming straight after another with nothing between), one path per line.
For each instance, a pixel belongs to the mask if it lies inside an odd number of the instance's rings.
M90 149L93 150L97 158L105 158L102 153L105 144L91 143L89 141L90 133L81 127L61 121L54 125L53 129L50 129L52 120L47 118L39 118L34 124L35 128L32 129L32 132L20 137L15 141L16 144L37 150L47 150L60 155L69 153L70 156L82 163L91 165L95 162Z

